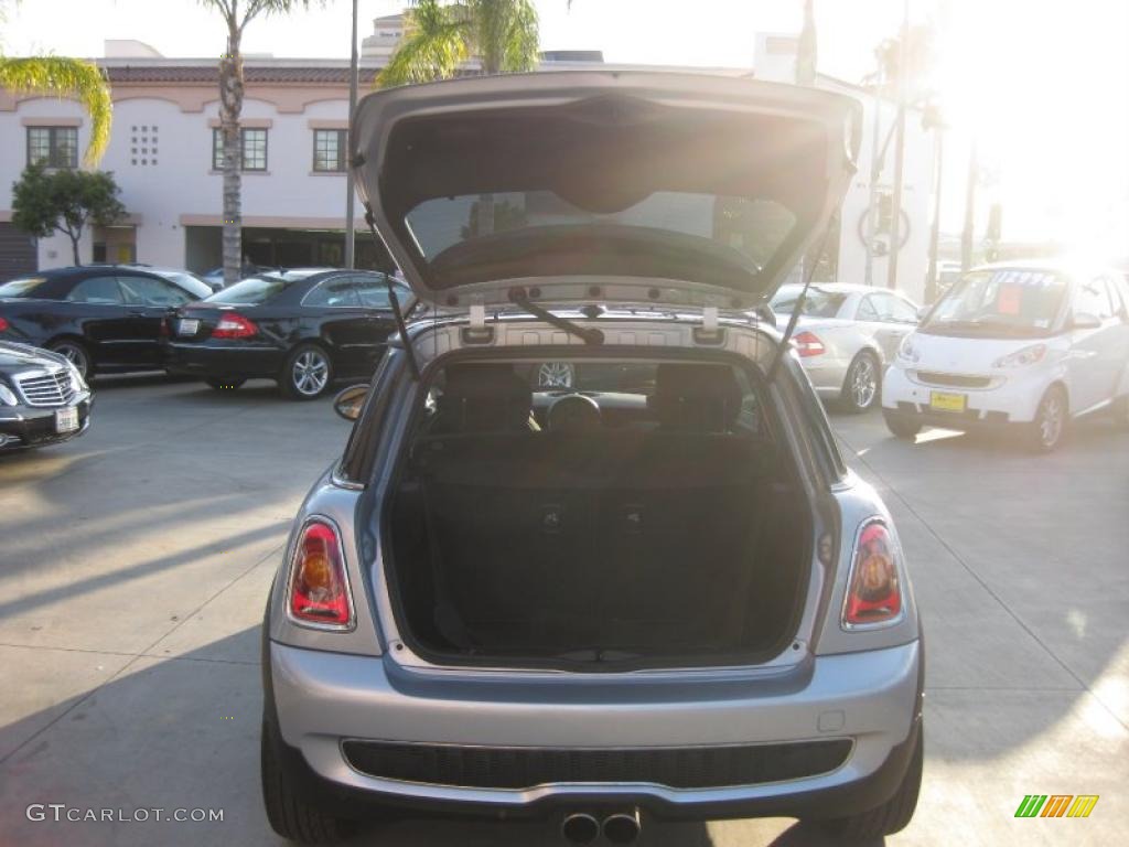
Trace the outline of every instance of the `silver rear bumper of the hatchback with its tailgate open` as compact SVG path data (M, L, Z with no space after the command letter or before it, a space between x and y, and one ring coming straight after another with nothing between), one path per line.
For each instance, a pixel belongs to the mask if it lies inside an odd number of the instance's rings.
M920 643L815 658L798 684L639 681L549 684L480 680L417 683L379 657L270 645L268 715L295 778L326 801L478 814L640 806L667 819L840 817L885 802L913 752ZM830 772L786 781L672 788L657 781L482 788L401 781L355 769L344 739L551 750L702 750L848 739Z

